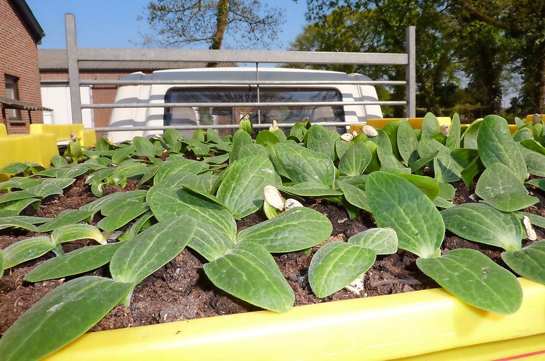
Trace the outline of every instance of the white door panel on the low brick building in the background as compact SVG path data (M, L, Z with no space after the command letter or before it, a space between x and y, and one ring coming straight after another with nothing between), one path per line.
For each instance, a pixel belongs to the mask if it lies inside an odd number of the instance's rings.
M40 86L41 104L53 111L44 111L45 124L71 124L72 110L70 106L70 88L68 85ZM93 97L90 86L80 86L81 102L92 104ZM81 112L83 125L86 128L94 127L93 109L83 109Z

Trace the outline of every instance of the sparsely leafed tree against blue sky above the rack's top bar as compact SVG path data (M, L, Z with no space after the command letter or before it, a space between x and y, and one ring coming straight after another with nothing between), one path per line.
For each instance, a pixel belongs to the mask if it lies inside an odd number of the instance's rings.
M228 34L237 47L268 49L283 23L283 10L258 0L154 0L138 17L144 19L151 30L141 33L143 46L221 49Z

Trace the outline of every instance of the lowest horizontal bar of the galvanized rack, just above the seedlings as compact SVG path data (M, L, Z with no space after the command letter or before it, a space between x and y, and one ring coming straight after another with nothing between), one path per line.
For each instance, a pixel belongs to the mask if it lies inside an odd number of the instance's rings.
M350 123L350 122L315 122L313 124L319 124L324 127L347 127L347 126L364 126L366 123ZM280 128L291 128L295 123L278 123ZM254 124L253 128L256 129L269 129L270 124ZM172 125L172 126L149 126L149 127L99 127L94 128L96 132L132 132L132 130L197 130L197 129L238 129L238 124L216 124L216 125Z

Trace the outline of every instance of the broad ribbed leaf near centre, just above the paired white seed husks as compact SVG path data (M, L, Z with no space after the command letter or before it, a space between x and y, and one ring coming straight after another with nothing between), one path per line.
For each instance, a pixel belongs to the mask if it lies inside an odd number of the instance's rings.
M275 150L294 183L320 182L330 188L335 183L335 167L326 155L289 143L278 143Z

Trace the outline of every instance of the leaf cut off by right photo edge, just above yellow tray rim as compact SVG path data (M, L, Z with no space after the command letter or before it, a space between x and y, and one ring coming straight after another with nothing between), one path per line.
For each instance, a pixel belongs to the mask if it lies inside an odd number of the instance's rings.
M501 259L520 276L545 284L545 241L534 242L522 250L503 252Z

